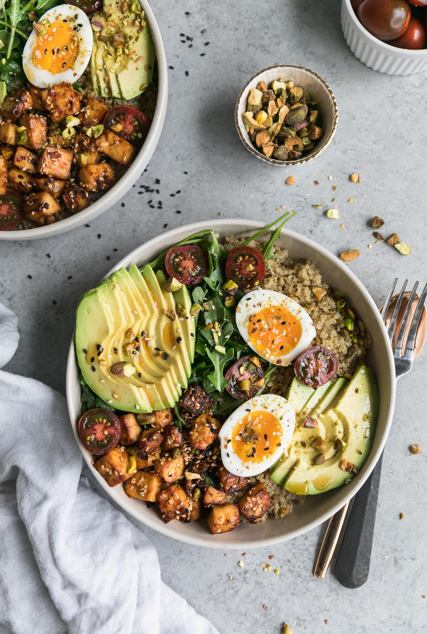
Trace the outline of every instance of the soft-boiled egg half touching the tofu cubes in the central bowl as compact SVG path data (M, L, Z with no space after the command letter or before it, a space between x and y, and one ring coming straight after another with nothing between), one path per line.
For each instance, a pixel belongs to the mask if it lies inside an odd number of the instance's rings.
M222 464L233 475L258 475L280 458L294 428L295 412L283 396L254 396L220 429Z

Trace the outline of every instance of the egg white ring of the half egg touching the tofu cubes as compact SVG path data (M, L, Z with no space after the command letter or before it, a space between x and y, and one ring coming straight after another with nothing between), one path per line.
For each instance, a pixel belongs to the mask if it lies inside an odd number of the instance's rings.
M233 430L239 421L242 420L251 411L268 411L277 418L281 425L282 438L281 443L273 451L269 458L265 458L262 462L243 462L236 453L234 453L231 437ZM221 460L226 469L233 475L250 476L258 475L271 467L286 450L291 441L293 430L295 429L295 412L288 401L283 396L277 394L261 394L254 396L252 399L245 401L236 410L233 411L222 425L219 432L219 441L221 446Z

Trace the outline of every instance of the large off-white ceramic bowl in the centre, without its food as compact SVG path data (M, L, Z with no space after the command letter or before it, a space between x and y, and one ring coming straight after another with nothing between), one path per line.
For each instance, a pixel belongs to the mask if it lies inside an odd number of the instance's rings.
M219 238L227 235L248 236L265 226L264 223L250 220L215 220L189 224L149 240L141 245L112 269L106 276L114 271L131 264L142 266L145 262L154 259L159 252L167 249L176 242L196 231L213 229L219 234ZM84 459L91 469L92 474L103 486L118 505L129 514L150 528L159 531L176 540L186 543L207 546L210 548L253 548L272 545L284 540L290 540L302 533L309 531L337 510L355 495L364 481L373 470L381 452L383 451L390 425L392 424L393 409L395 403L395 369L393 354L388 340L388 335L381 320L381 316L373 299L357 277L329 251L293 231L282 230L281 237L276 242L281 247L289 250L294 259L305 261L310 259L319 267L325 280L334 288L339 288L347 297L352 306L357 308L360 317L366 324L366 328L373 337L373 346L369 350L367 363L373 369L379 388L379 415L374 438L373 449L360 473L352 479L347 486L333 489L321 495L307 496L301 505L294 505L293 512L282 519L272 519L260 522L256 526L241 523L231 533L211 535L206 522L169 522L163 524L156 508L148 508L143 502L134 498L129 499L122 486L110 488L105 479L99 475L91 465L89 454L80 441L76 422L80 418L80 382L79 366L75 356L73 342L70 345L67 364L67 403L70 413L70 422L75 434L77 444Z

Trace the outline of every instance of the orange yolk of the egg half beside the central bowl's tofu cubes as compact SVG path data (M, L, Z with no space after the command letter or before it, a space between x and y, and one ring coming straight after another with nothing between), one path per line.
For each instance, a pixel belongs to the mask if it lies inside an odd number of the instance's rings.
M251 411L239 420L231 436L234 453L243 462L267 460L282 441L279 420L269 411Z

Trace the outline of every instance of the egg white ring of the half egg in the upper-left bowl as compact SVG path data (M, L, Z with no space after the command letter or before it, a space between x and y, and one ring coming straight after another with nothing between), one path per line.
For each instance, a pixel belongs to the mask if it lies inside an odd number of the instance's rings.
M42 70L37 68L36 60L33 59L33 48L35 41L40 37L40 34L35 30L32 30L27 43L24 46L22 54L22 66L27 75L27 79L34 86L38 88L48 88L50 86L57 86L63 81L68 81L70 84L79 79L86 70L89 61L91 61L93 35L92 27L86 13L72 4L60 4L60 6L54 6L53 9L46 11L41 16L41 20L49 20L50 23L60 22L61 20L69 20L69 18L75 18L75 26L81 24L75 33L79 37L79 55L74 63L74 68L68 68L64 72L53 74L49 70Z

